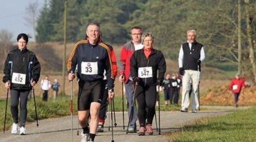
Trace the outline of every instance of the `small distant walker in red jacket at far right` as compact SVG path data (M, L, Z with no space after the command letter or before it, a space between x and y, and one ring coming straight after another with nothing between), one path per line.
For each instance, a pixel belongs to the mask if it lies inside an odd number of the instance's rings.
M243 79L240 78L240 74L237 74L236 77L232 79L229 86L229 90L231 91L231 93L234 93L236 107L238 107L238 97L242 88L245 88L245 82Z

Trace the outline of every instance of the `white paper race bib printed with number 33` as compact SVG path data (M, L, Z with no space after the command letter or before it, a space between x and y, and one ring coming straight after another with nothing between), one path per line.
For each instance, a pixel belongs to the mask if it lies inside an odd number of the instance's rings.
M98 74L98 63L97 62L82 62L81 73L86 75Z

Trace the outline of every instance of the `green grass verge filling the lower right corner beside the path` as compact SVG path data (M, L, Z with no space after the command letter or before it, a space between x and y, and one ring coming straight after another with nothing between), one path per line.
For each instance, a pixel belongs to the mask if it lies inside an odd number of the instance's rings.
M169 142L255 142L256 107L197 121L170 135Z

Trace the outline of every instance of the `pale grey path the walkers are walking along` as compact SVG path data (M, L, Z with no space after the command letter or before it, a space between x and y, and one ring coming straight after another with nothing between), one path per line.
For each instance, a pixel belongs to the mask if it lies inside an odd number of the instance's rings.
M220 115L226 115L234 111L234 107L221 107L222 110L209 110L199 111L198 113L191 112L161 112L161 135L156 132L155 119L153 121L154 135L152 136L137 136L137 134L125 134L123 130L122 112L116 112L117 127L114 127L114 140L115 142L164 142L167 140L165 134L178 131L183 125L193 123L199 118L203 117L215 117ZM244 109L240 107L240 109ZM158 112L157 112L158 114ZM158 118L158 117L157 117ZM128 116L125 112L125 125L127 125ZM157 121L158 122L158 121ZM137 123L138 124L138 123ZM51 118L39 121L39 128L36 127L36 123L30 123L26 125L26 136L11 135L10 130L5 134L0 133L0 142L70 142L70 116L61 118ZM77 131L77 116L73 116L73 142L79 142L80 136L76 135ZM81 128L79 133L81 133ZM108 119L105 123L104 133L98 133L96 142L111 142L111 131L108 131ZM80 134L79 134L80 135Z

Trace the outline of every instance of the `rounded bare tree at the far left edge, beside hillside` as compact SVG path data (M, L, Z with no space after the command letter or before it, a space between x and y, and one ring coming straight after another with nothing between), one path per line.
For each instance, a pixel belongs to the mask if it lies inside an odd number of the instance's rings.
M6 54L9 52L12 45L12 38L13 35L10 32L8 32L7 30L0 30L0 45L2 46L0 48L0 54Z

